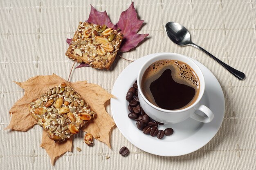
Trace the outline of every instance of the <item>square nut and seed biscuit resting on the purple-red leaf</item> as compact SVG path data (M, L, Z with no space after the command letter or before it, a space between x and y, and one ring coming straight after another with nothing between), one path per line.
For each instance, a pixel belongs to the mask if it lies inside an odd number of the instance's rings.
M117 30L90 22L79 22L66 56L93 68L110 69L123 39Z

